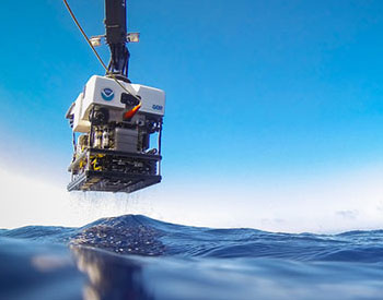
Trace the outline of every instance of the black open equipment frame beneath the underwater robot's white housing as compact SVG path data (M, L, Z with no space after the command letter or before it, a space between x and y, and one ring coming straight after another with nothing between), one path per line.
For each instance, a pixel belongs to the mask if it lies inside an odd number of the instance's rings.
M69 109L67 118L73 128L72 109ZM98 110L97 115L90 113L89 132L78 137L73 132L74 153L68 168L71 172L68 191L131 193L161 182L163 117L138 112L128 121L111 122L102 111L107 112ZM98 134L102 131L108 133L106 147L104 140L96 141L105 139L104 134ZM119 131L137 135L124 136L118 134ZM150 148L150 137L154 133L158 133L158 144Z

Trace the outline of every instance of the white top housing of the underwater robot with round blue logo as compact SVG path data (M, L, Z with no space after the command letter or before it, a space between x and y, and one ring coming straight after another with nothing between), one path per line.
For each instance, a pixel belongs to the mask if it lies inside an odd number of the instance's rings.
M165 93L162 89L141 84L130 84L119 81L119 83L132 95L141 98L139 112L155 116L164 116ZM93 106L102 106L111 110L126 109L121 103L121 95L126 91L114 80L105 76L93 75L84 86L82 93L76 99L72 107L73 131L89 132L91 123L89 113Z

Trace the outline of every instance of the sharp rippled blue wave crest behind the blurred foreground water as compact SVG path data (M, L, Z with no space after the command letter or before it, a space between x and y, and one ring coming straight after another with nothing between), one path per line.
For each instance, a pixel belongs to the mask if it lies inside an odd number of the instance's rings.
M125 215L102 218L80 228L28 226L0 231L0 236L146 256L383 261L383 230L339 235L275 233L249 228L182 226L142 215Z

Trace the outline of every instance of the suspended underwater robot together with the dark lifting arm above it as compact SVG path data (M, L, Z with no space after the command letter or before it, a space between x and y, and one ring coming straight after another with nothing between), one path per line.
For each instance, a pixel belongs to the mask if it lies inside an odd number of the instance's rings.
M91 76L66 115L74 147L68 191L130 193L161 181L165 93L128 80L126 1L105 0L105 10L106 75Z

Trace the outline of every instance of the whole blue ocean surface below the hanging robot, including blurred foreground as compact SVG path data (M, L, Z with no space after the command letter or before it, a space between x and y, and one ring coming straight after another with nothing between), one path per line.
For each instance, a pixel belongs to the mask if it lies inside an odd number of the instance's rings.
M383 230L271 233L141 215L3 229L0 299L383 299Z

